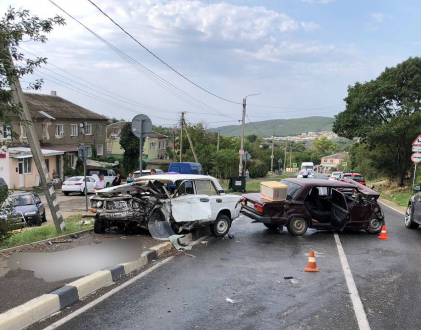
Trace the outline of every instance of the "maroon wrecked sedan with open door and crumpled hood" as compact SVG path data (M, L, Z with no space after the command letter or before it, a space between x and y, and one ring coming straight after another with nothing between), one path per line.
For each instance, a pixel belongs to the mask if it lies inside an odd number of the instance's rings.
M309 227L381 231L384 214L377 203L379 194L356 181L291 178L280 182L288 187L286 200L271 202L260 193L244 194L241 213L269 229L286 226L292 235L303 235Z

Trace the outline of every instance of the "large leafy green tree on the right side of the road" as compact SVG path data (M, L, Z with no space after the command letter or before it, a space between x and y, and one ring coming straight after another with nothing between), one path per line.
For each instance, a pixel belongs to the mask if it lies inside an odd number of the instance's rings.
M411 142L421 124L421 58L410 57L375 80L349 86L344 100L346 110L336 115L333 131L382 152L389 163L374 164L377 171L403 186L412 165Z

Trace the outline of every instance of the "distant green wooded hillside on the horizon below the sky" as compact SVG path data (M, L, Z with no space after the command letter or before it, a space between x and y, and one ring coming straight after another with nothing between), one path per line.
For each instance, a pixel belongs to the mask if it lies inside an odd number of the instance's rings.
M262 134L248 122L246 118L246 125L244 134L256 134L262 137L270 137L273 133L273 126L283 125L282 127L275 128L276 136L293 136L300 135L301 133L307 132L320 132L320 131L331 131L332 124L335 118L329 117L306 117L306 118L294 118L294 119L273 119L264 121L254 121L253 124L256 128L263 133ZM241 136L241 124L240 125L229 125L221 126L217 128L209 129L211 132L220 131L221 135L225 136Z

